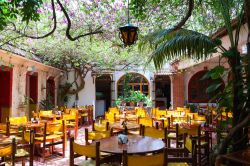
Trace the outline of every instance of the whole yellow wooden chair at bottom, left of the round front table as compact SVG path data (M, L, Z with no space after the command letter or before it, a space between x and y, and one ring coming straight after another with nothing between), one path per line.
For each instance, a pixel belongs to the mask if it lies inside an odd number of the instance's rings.
M85 156L85 160L75 164L74 159L80 156ZM74 138L70 138L70 159L69 166L108 166L108 164L102 163L104 159L100 154L100 142L96 142L95 145L81 145L74 141Z

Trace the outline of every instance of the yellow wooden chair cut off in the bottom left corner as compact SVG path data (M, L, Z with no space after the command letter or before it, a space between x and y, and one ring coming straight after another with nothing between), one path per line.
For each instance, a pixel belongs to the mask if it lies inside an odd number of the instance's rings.
M13 138L10 143L0 144L0 165L5 165L7 159L11 159L11 165L15 165L15 149L16 149L16 139Z

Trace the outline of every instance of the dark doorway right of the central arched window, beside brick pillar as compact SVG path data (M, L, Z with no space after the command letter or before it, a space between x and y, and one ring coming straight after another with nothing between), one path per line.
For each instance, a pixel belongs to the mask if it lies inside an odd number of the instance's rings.
M155 77L155 107L169 108L171 104L171 80L168 75Z

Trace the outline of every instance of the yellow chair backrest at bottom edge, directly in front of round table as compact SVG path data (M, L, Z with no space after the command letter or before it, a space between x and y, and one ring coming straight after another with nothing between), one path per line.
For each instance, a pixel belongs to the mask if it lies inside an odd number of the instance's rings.
M124 166L165 166L165 148L164 151L151 155L128 155L127 151L123 151L122 163Z

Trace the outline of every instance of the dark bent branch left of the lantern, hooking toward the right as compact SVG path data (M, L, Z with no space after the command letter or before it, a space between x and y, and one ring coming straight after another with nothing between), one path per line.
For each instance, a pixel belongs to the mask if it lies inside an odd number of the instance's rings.
M63 5L62 5L62 3L60 2L60 0L57 0L57 3L58 3L59 6L61 7L61 9L62 9L62 11L63 11L63 14L64 14L64 16L66 17L67 22L68 22L68 26L67 26L67 29L66 29L66 36L67 36L67 38L68 38L69 40L75 41L75 40L78 40L78 39L81 38L81 37L85 37L85 36L88 36L88 35L94 35L94 34L102 33L102 31L100 30L102 27L100 26L100 27L98 27L98 28L97 28L95 31L93 31L93 32L91 31L91 32L85 33L85 34L83 34L83 35L79 35L79 36L76 36L76 37L72 37L72 36L70 35L71 20L70 20L70 18L69 18L69 15L68 15L66 9L63 7Z

